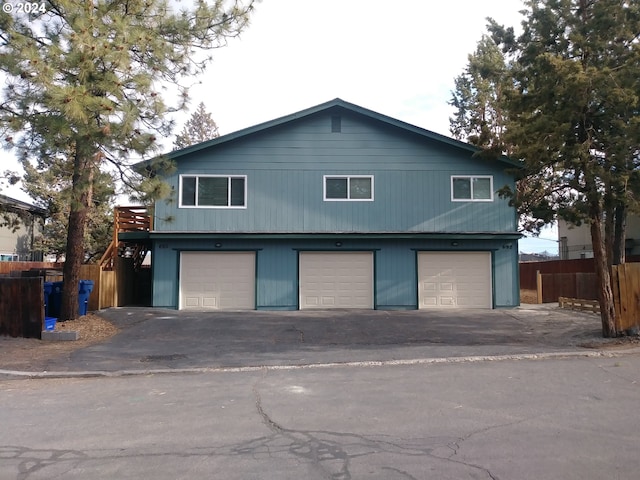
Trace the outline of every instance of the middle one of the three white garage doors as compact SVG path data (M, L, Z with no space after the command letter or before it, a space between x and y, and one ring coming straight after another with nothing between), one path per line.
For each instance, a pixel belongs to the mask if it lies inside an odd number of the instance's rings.
M301 252L300 309L373 308L372 252Z

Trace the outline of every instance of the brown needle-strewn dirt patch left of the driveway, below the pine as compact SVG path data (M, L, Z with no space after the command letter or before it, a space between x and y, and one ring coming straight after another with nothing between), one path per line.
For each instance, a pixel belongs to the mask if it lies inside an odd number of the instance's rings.
M91 313L76 320L58 322L55 330L76 331L79 339L70 342L44 342L37 338L0 337L0 370L46 370L51 360L103 342L119 332L111 322Z

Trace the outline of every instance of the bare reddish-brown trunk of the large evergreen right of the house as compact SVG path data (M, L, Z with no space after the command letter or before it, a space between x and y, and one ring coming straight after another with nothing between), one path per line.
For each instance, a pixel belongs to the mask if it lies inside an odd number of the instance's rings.
M598 207L599 210L599 207ZM611 289L611 274L606 256L606 247L602 236L602 213L594 211L591 215L591 243L600 301L600 317L602 320L602 336L606 338L618 336L616 330L616 311Z

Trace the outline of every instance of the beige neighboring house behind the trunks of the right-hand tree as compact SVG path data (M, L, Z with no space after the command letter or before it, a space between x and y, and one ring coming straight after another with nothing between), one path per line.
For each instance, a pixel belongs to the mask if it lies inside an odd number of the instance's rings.
M560 260L593 258L589 224L583 223L577 227L558 220L558 241ZM636 215L627 216L625 254L640 255L640 218Z

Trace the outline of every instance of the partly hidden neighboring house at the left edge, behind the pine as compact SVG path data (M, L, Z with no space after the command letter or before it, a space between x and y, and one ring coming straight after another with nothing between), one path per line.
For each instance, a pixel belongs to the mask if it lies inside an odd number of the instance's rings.
M5 225L5 213L8 220L17 222L17 228ZM0 261L42 261L34 241L42 232L46 214L43 208L0 195Z

